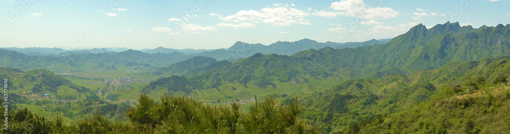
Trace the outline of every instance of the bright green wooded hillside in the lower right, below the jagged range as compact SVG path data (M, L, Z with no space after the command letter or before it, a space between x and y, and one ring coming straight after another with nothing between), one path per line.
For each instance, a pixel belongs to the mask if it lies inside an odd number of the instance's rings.
M373 133L385 129L390 133L445 133L447 130L458 133L471 132L475 125L478 125L478 132L504 130L507 126L487 124L482 117L492 118L485 117L486 114L502 115L501 120L498 120L505 122L504 117L507 117L508 111L505 111L507 108L503 103L509 99L505 93L510 92L507 85L509 60L509 56L500 56L481 61L451 63L437 70L420 71L410 76L398 74L381 79L352 79L305 98L305 107L308 109L305 109L302 117L326 131L344 133ZM486 100L491 97L497 99ZM470 105L474 108L468 108ZM491 109L490 113L488 109ZM429 116L432 114L429 111L442 113L443 119L450 122L431 123L437 120L435 116ZM421 115L424 119L402 116L420 115L414 112L426 115ZM479 118L470 119L451 114L466 112L471 112L471 117ZM425 120L428 124L411 125ZM471 126L463 128L465 126L461 124L466 121L470 121ZM391 123L396 123L396 126Z

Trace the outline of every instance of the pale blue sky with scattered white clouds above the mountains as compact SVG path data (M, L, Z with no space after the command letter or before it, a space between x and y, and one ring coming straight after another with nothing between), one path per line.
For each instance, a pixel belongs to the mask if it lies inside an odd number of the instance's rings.
M304 38L393 38L422 23L496 26L508 0L135 1L0 0L0 47L228 48Z

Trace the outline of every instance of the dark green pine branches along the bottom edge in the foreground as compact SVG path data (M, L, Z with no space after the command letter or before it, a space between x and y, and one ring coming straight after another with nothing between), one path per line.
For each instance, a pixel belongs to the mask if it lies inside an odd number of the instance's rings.
M302 106L298 101L281 105L273 98L246 111L239 105L230 107L205 106L202 102L184 97L163 96L155 101L142 94L139 104L129 109L130 122L113 122L100 115L78 123L45 120L27 109L11 111L8 130L1 133L322 133L318 128L300 120ZM5 118L0 115L0 118Z

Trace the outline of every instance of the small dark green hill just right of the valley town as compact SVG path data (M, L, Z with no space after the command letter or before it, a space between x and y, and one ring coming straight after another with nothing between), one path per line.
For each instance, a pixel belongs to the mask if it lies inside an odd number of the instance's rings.
M207 66L207 65L210 65L210 64L213 64L216 62L218 62L218 61L214 58L200 57L200 56L193 57L191 59L188 59L188 60L185 60L182 62L174 63L174 64L170 65L169 67L157 69L157 70L153 71L152 73L154 73L156 75L182 75L182 74L190 72L194 69L202 68L204 66Z

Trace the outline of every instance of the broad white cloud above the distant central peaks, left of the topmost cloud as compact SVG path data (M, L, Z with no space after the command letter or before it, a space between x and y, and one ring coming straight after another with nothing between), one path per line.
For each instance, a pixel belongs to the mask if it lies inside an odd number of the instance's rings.
M310 13L289 7L264 8L260 11L242 10L234 15L220 17L225 21L252 21L269 23L271 26L289 26L291 24L310 24L309 20L303 19Z

